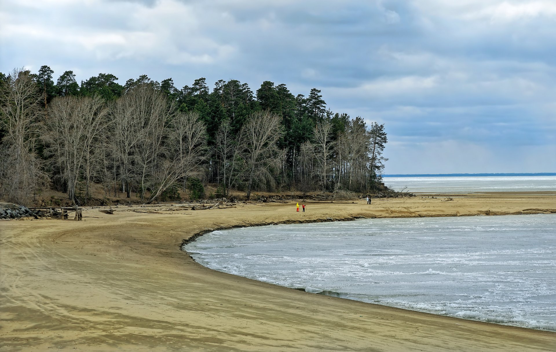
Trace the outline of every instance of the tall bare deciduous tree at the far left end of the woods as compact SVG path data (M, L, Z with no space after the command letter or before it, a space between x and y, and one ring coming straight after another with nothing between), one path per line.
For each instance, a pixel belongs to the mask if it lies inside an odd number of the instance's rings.
M14 69L0 84L0 124L6 130L0 144L0 198L26 203L47 179L35 153L42 97L29 71L23 69Z

